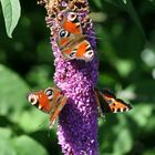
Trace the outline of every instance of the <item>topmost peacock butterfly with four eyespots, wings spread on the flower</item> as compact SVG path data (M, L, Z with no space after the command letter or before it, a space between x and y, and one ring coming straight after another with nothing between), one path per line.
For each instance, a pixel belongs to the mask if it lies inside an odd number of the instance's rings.
M63 58L66 60L84 60L85 62L92 61L94 51L83 34L78 13L65 11L60 25L56 42Z

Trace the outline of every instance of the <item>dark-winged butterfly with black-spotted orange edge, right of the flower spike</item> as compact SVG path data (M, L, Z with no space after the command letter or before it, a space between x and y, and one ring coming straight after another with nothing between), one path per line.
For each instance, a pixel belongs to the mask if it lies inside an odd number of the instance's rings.
M97 108L101 115L105 113L120 113L120 112L127 112L133 107L125 103L121 99L116 99L116 96L107 89L99 91L96 87L94 89L95 99Z

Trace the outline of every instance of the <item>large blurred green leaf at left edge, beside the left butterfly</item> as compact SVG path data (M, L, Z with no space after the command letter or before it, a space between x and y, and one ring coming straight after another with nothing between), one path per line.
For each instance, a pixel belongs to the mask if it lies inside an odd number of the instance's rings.
M27 107L25 94L29 86L14 72L0 64L0 115L18 122Z

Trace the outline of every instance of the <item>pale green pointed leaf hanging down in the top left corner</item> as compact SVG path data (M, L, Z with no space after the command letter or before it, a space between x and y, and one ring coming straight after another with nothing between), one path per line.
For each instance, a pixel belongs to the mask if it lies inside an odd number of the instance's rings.
M12 38L12 31L18 24L21 8L19 0L1 0L2 12L4 17L4 23L7 29L7 34Z

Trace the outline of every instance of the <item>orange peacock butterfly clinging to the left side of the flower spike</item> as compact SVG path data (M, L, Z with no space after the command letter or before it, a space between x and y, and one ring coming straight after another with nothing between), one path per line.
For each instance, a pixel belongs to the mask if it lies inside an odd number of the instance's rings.
M68 101L61 90L54 86L38 92L31 92L27 97L33 106L50 115L50 128L53 127L60 112Z

